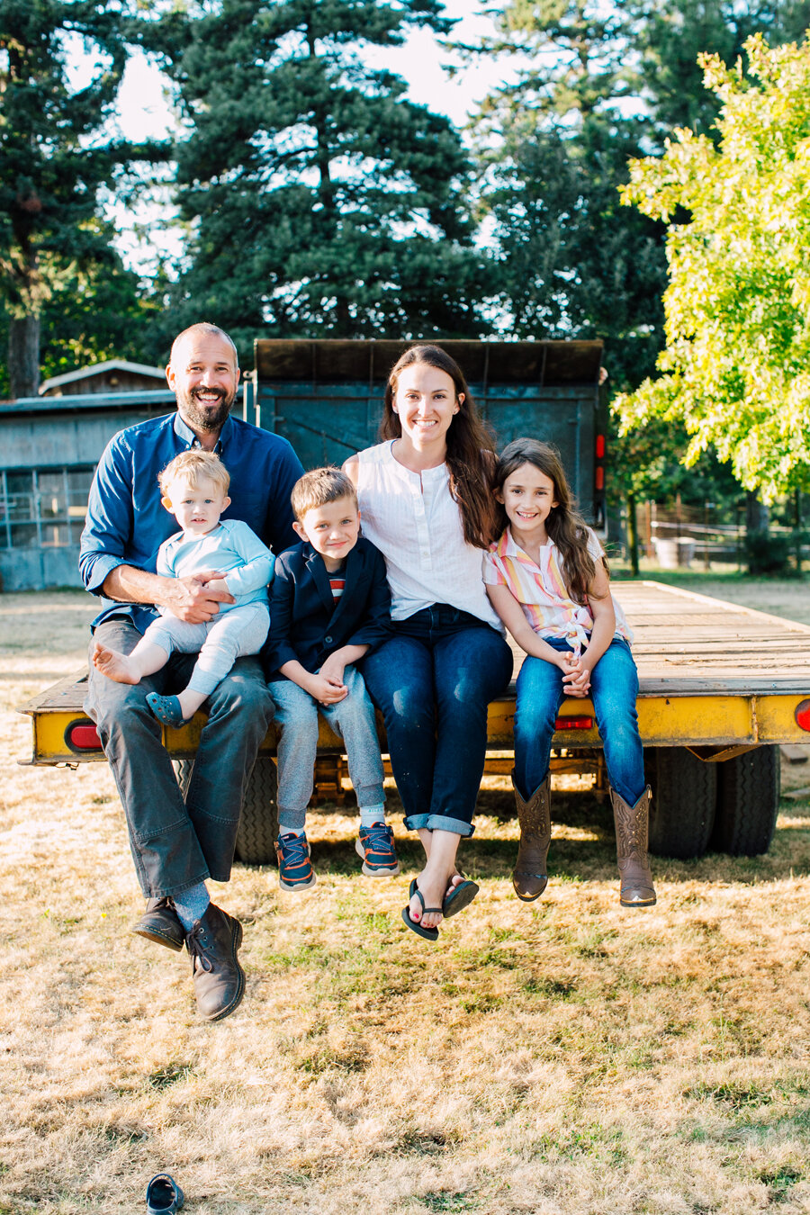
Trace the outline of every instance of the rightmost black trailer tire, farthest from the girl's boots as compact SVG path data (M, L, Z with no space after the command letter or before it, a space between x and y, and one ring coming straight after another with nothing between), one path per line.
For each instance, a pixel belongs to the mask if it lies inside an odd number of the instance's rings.
M771 846L780 808L780 748L757 747L718 768L712 847L732 857L759 857Z

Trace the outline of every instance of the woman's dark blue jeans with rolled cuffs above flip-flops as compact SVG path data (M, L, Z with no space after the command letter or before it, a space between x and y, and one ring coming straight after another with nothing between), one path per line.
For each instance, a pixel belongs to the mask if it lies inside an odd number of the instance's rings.
M383 711L404 825L471 836L487 705L509 684L511 650L489 625L448 604L432 604L393 628L362 667Z

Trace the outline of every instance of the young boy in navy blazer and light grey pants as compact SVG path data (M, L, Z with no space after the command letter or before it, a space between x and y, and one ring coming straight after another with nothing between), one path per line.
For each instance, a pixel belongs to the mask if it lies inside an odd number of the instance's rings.
M385 560L359 535L355 487L336 468L316 468L293 487L301 543L276 560L270 634L262 662L276 702L278 739L278 882L315 886L306 838L318 745L318 711L344 740L357 804L356 848L369 877L400 872L385 823L383 759L374 706L355 663L389 635Z

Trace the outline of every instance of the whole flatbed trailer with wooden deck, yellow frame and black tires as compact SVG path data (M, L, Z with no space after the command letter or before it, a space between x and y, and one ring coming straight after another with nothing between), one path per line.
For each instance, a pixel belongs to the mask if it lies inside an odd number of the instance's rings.
M709 847L757 855L774 833L780 745L810 742L810 627L658 582L614 582L635 633L639 728L653 790L651 850L692 858ZM515 676L521 651L516 651ZM104 761L84 714L86 672L41 693L30 714L33 764ZM487 770L509 773L515 680L489 706ZM205 716L164 729L181 787L187 782ZM380 722L380 746L385 735ZM276 731L271 727L250 781L237 841L248 864L274 858ZM589 700L563 701L553 772L593 773L606 790L601 741ZM390 769L389 769L390 770ZM342 744L322 719L316 796L345 801Z

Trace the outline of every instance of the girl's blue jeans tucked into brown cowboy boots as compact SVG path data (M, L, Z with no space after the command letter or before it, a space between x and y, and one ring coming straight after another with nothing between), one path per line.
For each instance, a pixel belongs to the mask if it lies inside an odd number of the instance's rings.
M561 652L571 649L562 639L544 640ZM628 806L635 806L645 790L644 747L635 711L638 694L639 673L630 646L614 637L590 673L590 699L608 780ZM527 655L517 676L514 727L515 784L523 798L531 797L548 775L554 723L563 699L560 668Z

